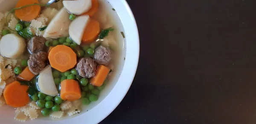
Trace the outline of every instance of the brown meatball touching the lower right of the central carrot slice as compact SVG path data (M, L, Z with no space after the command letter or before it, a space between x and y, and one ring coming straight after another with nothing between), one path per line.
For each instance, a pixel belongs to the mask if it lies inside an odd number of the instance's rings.
M92 78L95 76L97 63L91 58L81 58L76 65L76 69L81 77Z

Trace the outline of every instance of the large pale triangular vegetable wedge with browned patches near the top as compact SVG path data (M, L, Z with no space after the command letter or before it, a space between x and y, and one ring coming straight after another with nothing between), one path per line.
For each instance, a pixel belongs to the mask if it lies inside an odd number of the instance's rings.
M44 31L43 37L59 38L68 36L68 28L71 23L69 20L69 13L63 7L56 15L53 17L52 21L49 23Z

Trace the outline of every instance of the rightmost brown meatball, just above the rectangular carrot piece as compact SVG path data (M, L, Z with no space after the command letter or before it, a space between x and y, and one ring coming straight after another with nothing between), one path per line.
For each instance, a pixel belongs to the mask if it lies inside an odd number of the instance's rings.
M108 47L99 46L95 49L94 60L98 64L108 65L111 60L111 50Z

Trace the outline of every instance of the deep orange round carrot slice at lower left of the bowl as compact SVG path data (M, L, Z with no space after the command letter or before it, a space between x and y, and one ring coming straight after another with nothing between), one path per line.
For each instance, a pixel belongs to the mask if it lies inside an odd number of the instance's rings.
M6 104L12 107L23 107L29 102L29 86L20 85L20 82L13 81L3 90Z

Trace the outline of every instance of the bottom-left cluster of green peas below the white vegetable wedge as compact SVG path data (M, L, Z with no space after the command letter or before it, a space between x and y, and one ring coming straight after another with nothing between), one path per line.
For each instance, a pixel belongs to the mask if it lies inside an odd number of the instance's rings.
M32 100L36 101L38 107L43 108L41 113L44 116L49 115L51 110L54 112L61 110L60 104L62 103L62 99L59 96L53 98L52 96L38 92L32 96Z

